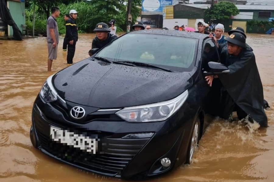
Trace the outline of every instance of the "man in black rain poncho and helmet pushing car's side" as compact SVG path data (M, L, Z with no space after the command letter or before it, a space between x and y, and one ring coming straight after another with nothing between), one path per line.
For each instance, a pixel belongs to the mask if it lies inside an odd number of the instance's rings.
M211 36L212 37L212 36ZM252 49L246 46L243 34L233 32L227 40L228 56L222 63L228 66L230 72L220 75L223 85L222 112L220 116L229 119L233 111L237 111L239 120L250 116L262 127L267 126L267 116L264 111L263 87ZM214 39L214 38L213 38ZM216 41L214 39L214 41ZM223 55L226 55L225 53ZM213 78L218 76L206 76L211 86Z

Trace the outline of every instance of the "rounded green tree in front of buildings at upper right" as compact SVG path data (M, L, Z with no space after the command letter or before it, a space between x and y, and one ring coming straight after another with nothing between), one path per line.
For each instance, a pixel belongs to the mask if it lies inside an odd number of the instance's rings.
M239 9L232 2L221 1L214 4L212 8L205 10L206 17L210 19L224 20L229 19L230 16L239 14Z

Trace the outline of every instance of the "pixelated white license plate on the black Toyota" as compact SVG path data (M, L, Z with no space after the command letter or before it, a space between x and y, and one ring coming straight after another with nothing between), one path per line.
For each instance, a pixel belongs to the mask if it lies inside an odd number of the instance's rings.
M98 142L94 138L69 132L68 130L61 130L60 128L56 128L54 126L50 127L50 138L52 141L64 143L93 154L96 154L98 147Z

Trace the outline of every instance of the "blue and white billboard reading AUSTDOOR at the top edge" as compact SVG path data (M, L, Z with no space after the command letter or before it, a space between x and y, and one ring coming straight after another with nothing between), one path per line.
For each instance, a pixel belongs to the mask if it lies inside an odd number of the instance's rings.
M172 0L142 0L143 12L163 12L165 6L172 5Z

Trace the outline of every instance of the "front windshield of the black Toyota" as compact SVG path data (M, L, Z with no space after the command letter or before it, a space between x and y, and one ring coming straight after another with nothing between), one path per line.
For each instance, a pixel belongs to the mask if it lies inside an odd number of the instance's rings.
M198 39L186 37L129 33L106 46L96 57L187 71L195 64L197 44Z

